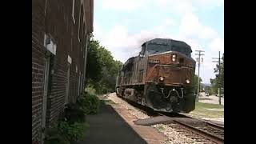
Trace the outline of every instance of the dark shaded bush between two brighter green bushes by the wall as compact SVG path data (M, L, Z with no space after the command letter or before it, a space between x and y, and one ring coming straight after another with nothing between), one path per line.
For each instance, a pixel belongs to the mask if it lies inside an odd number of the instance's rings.
M85 122L86 114L78 103L70 103L64 111L64 119L71 124L74 122ZM63 118L62 118L63 120Z

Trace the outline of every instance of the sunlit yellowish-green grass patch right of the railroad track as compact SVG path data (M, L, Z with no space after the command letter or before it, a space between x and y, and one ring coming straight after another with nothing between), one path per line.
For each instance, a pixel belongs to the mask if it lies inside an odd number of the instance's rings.
M190 114L198 118L224 118L224 106L218 104L196 102L195 109L191 111Z

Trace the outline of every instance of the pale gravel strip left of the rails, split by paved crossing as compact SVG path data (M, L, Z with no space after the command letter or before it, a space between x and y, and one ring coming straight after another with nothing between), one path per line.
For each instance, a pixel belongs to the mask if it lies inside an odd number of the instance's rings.
M138 110L134 106L130 106L130 104L122 100L122 98L118 98L115 93L109 94L108 99L110 99L114 103L117 103L125 107L130 114L134 115L138 119L150 118L150 116L148 116L147 114L144 114L141 110ZM156 130L158 130L162 134L166 135L168 139L166 139L165 144L186 144L186 143L200 144L200 142L196 142L194 139L186 137L185 134L178 132L178 130L172 127L172 124L170 125L157 124L152 127L154 127Z

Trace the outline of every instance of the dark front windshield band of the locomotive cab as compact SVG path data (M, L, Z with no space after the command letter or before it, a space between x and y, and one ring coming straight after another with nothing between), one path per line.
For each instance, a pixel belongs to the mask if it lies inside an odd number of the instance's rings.
M191 50L188 47L178 47L178 46L169 46L165 44L156 44L156 43L149 43L147 46L147 52L149 54L158 54L163 53L166 51L178 51L182 54L185 54L188 57L191 57Z

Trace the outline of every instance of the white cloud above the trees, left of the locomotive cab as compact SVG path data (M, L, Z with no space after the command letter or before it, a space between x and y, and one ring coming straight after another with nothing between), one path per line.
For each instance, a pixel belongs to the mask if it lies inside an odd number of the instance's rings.
M114 59L126 62L132 56L138 55L140 46L152 38L158 38L157 34L151 31L142 30L138 34L128 34L126 26L114 26L109 32L100 36L95 33L102 46L105 46L113 54Z

